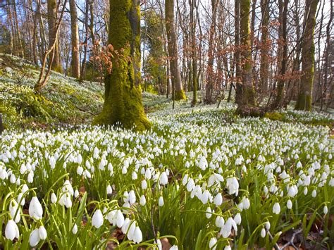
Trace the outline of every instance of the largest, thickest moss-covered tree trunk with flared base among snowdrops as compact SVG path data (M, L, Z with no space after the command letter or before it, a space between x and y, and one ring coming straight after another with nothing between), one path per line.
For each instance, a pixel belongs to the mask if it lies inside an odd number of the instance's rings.
M104 80L104 106L94 124L150 127L140 88L140 6L137 0L110 0L109 44L118 51Z

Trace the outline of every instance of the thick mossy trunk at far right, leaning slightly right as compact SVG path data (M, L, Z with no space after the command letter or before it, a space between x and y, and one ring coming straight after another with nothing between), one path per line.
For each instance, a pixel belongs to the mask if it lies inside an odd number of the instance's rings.
M314 80L314 27L316 26L316 8L319 0L305 2L305 27L302 39L302 78L295 109L311 111Z

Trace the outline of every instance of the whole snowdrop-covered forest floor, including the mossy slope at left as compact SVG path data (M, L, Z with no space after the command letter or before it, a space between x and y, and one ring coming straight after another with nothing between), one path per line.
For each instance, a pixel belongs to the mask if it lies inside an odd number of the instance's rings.
M334 115L290 107L241 118L235 104L192 108L188 96L172 109L165 96L143 93L151 130L104 130L89 126L103 87L52 73L37 95L38 68L0 58L0 218L23 183L31 188L23 213L32 189L44 211L39 221L22 216L22 237L0 237L0 247L26 249L41 222L48 237L38 247L58 249L138 247L137 227L141 248L154 239L195 250L334 246Z

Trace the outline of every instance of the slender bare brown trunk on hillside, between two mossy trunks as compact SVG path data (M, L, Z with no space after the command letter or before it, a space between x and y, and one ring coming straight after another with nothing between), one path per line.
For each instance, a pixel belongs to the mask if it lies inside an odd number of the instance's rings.
M75 0L70 0L70 43L72 45L72 61L70 63L70 67L72 70L72 76L78 79L80 77L79 27Z

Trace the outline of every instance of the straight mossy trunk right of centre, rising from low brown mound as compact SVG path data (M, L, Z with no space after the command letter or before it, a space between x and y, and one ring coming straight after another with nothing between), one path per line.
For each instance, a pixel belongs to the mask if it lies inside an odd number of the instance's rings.
M255 92L252 76L252 49L249 30L250 0L240 1L240 46L242 61L242 97L240 106L254 106Z

